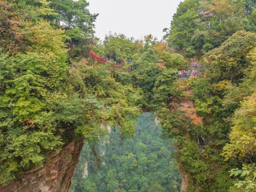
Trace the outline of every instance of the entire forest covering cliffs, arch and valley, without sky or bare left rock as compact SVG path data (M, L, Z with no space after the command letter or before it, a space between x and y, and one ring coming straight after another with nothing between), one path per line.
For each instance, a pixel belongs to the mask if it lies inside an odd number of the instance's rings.
M84 140L70 191L256 191L256 1L184 0L162 40L88 6L0 0L0 185Z

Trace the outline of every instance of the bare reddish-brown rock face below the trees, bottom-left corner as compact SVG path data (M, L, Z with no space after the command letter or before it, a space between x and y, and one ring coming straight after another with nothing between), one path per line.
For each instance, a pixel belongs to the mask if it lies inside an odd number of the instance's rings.
M21 173L9 185L0 186L0 192L67 192L83 144L82 140L79 143L73 141L64 146L59 154L53 151L47 156L44 167Z

